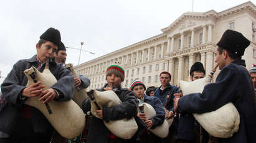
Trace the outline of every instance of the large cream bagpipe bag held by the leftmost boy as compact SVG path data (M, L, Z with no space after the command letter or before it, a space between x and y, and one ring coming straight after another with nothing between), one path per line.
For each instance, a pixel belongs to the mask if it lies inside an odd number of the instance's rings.
M42 73L35 67L25 70L24 73L28 78L27 86L34 84L34 81L29 75L35 73L36 80L41 81L42 83L40 85L45 86L42 89L43 91L49 89L57 82L55 76L46 67ZM48 104L52 110L52 114L49 114L45 104L39 101L39 96L27 98L25 104L39 109L54 129L67 139L79 136L85 127L85 114L83 114L82 109L73 100L50 101Z

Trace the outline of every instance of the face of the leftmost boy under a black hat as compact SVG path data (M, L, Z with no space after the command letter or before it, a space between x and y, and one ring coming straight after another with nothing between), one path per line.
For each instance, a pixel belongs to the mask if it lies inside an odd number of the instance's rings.
M46 61L46 58L54 57L58 47L57 45L54 45L52 42L47 41L44 44L42 44L40 47L39 47L39 44L37 44L36 48L37 48L37 58L39 58L39 60L44 63Z

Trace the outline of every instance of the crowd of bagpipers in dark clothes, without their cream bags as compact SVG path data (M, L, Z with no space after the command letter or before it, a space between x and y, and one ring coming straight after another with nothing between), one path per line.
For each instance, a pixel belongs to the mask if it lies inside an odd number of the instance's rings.
M226 30L216 48L216 63L219 64L220 70L216 81L206 85L202 93L186 96L183 96L177 86L170 84L172 75L168 71L159 73L159 87L145 85L136 78L131 82L130 89L122 88L125 70L120 65L110 65L106 71L107 83L97 90L114 91L121 103L97 109L97 118L88 114L91 110L91 100L87 98L82 102L83 113L91 116L87 118L90 124L85 126L88 130L86 142L256 142L256 67L247 70L245 60L242 60L245 48L249 45L250 41L240 32ZM69 101L73 98L74 88L87 88L90 86L90 80L86 76L74 78L72 73L64 68L67 53L59 30L49 28L40 35L36 50L37 53L33 57L15 63L1 85L0 142L69 142L55 131L44 114L25 102L35 96L39 96L44 104L52 100ZM50 59L49 70L57 79L57 83L44 91L44 85L40 81L26 86L27 77L23 71L36 67L42 72L47 58ZM204 78L206 71L202 63L195 62L189 74L190 80L194 81ZM193 113L215 111L230 102L240 114L239 130L232 137L212 136L193 116ZM154 108L156 114L153 118L146 118L146 113L138 110L143 103ZM138 125L138 131L131 139L121 139L104 124L131 118L135 118ZM150 131L161 126L167 119L173 119L167 137L158 137Z

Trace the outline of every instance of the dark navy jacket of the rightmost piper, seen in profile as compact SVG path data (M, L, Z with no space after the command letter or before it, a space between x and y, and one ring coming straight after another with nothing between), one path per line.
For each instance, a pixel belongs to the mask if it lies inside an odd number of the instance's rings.
M202 93L192 93L179 99L178 110L207 113L232 102L240 114L239 131L221 142L256 142L256 109L250 76L244 60L235 60L222 68L215 83L204 86Z

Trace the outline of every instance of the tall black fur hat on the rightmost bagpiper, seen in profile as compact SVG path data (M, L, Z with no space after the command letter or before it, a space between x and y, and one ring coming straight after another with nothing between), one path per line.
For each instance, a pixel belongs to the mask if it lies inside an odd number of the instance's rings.
M240 32L226 30L217 45L225 50L229 50L229 52L242 56L244 55L245 48L250 45L250 41Z

